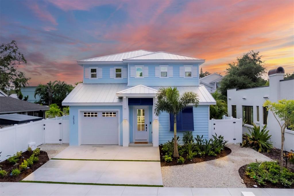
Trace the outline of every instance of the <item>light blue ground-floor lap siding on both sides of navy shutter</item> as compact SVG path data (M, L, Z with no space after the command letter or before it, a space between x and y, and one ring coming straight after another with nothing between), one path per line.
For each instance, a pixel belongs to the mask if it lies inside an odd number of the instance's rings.
M200 105L193 107L194 117L194 131L193 137L196 135L203 135L203 138L208 139L208 105ZM159 115L159 144L163 144L173 138L173 131L170 131L169 114L163 112ZM180 143L182 143L184 132L177 132L180 136Z

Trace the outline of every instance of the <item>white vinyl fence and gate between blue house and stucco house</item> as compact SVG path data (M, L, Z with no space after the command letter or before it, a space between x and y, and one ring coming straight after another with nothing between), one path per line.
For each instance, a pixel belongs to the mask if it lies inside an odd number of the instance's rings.
M223 116L223 119L211 119L208 123L209 138L222 135L228 143L242 142L242 119Z

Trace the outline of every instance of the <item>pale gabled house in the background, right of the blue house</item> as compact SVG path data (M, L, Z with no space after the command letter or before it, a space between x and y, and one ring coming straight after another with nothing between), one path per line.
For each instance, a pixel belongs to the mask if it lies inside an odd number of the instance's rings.
M199 79L199 83L204 85L208 92L213 93L219 87L223 76L217 73L209 74Z

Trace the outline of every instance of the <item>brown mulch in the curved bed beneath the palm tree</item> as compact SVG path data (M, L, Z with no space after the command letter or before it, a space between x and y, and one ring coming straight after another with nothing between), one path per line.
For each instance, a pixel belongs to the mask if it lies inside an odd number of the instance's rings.
M225 156L229 155L232 152L232 150L230 148L225 147L223 152L221 152L217 156L195 157L192 160L187 160L187 155L183 155L182 157L185 159L185 162L184 163L178 163L177 158L173 158L172 162L165 162L164 159L163 159L164 152L161 150L161 148L162 148L162 146L159 146L160 165L161 165L161 167L172 166L172 165L186 165L186 164L191 164L191 163L200 163L200 162L204 162L204 161L210 161L210 160L218 159L218 158L221 158L221 157L225 157Z

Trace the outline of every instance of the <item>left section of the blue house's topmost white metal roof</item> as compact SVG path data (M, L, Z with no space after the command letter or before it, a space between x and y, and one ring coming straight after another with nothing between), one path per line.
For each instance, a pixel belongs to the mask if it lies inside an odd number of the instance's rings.
M135 50L130 52L122 52L118 54L106 55L102 57L95 57L91 59L84 59L78 62L123 61L123 59L128 59L128 58L137 57L137 56L141 56L145 54L151 54L151 53L154 53L154 52L148 51L148 50Z

